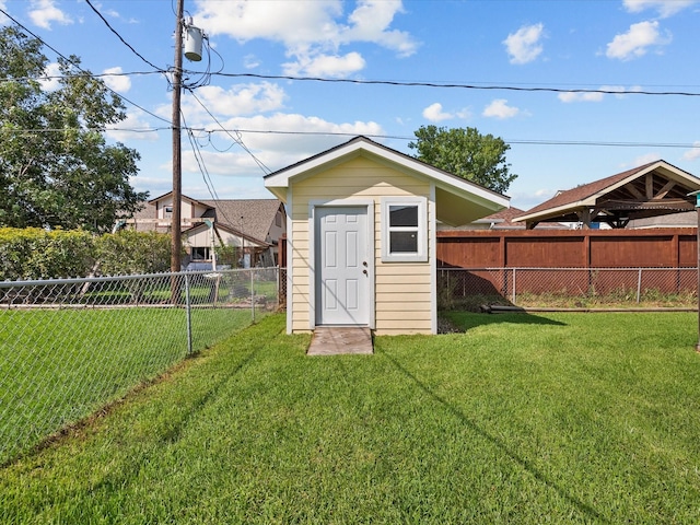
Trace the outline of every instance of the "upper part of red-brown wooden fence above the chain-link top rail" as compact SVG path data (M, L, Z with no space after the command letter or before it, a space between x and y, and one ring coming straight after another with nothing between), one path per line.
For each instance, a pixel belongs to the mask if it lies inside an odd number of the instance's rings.
M693 268L696 229L442 231L439 268Z

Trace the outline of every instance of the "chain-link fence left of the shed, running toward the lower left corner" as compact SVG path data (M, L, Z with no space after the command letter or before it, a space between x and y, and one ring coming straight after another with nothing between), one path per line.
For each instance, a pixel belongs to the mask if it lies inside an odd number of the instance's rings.
M0 282L0 465L278 310L277 268Z

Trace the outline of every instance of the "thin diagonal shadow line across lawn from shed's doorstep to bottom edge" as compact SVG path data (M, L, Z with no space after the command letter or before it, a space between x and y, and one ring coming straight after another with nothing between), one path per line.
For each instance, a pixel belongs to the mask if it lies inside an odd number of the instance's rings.
M474 314L472 314L474 315ZM488 315L488 314L487 314ZM522 314L518 314L522 315ZM556 323L549 323L556 324ZM540 471L537 467L535 467L526 458L520 456L515 451L513 451L505 441L499 439L495 435L490 434L485 429L482 429L479 424L477 424L474 420L469 419L467 415L465 415L462 410L450 404L446 399L439 396L434 392L432 392L423 382L421 382L418 377L416 377L410 371L406 370L401 363L399 363L395 358L389 355L388 353L383 352L383 354L396 366L396 369L408 377L411 382L413 382L421 390L423 390L428 396L442 405L450 413L455 416L459 421L462 421L466 427L468 427L472 432L480 435L482 439L488 441L489 443L495 445L500 451L503 452L508 457L510 457L513 462L517 463L521 467L527 470L537 481L546 485L553 489L561 498L568 501L571 505L581 512L586 520L592 520L597 523L610 523L608 518L598 513L593 506L587 503L581 501L576 497L568 493L562 487L560 487L556 481L548 478L542 471Z

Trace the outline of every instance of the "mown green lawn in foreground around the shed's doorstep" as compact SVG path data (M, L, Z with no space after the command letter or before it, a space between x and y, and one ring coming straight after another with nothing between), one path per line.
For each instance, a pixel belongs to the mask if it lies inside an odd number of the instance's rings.
M0 470L2 523L697 523L697 316L452 313L308 358L269 316Z

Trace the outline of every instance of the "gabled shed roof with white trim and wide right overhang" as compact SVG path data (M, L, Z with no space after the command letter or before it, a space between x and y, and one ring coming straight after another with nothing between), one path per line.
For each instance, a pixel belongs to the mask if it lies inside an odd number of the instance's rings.
M372 159L413 177L433 183L438 220L446 224L466 224L509 206L509 197L425 164L366 137L355 137L340 145L270 173L265 176L265 186L284 201L292 179L301 180L311 177L357 156Z

